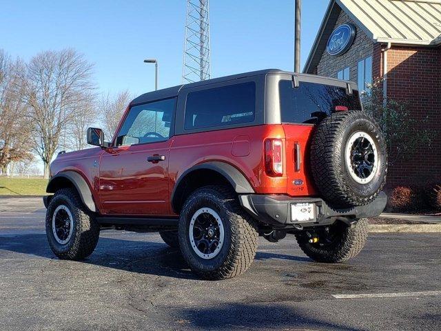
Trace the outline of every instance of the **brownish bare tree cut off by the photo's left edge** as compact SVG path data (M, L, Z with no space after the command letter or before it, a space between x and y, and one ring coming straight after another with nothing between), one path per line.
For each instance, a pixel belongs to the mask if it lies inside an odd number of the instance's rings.
M30 161L30 122L25 117L27 109L17 98L15 83L20 62L12 62L8 54L0 50L0 170L6 172L10 162ZM17 93L16 93L17 92Z

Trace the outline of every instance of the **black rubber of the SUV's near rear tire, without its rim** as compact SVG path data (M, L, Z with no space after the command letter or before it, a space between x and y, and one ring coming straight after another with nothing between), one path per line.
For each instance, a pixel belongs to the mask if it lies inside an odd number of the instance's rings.
M198 257L189 239L189 223L200 208L215 210L224 227L223 246L216 257ZM238 203L232 190L223 185L206 186L194 191L185 201L178 225L181 252L193 272L203 279L236 277L249 268L256 255L256 223Z

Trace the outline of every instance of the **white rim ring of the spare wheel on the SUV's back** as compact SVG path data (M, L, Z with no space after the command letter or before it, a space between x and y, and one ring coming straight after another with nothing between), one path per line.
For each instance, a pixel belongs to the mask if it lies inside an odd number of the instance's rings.
M357 154L357 157L360 157L361 161L363 162L361 165L357 165L358 163L354 161L355 158L354 151L356 150L356 145L360 141L365 146L367 146L367 148L369 148L369 156L367 155L358 156ZM369 157L369 162L367 161L368 157ZM372 181L373 177L375 177L377 173L378 161L379 161L376 144L374 143L372 137L366 132L362 132L362 131L357 131L353 133L346 143L345 161L346 161L347 170L349 171L349 174L351 174L351 178L354 181L356 181L359 184L367 184L370 181ZM369 167L371 167L371 170L364 168L367 167L368 163L369 163ZM363 168L364 170L360 170ZM368 171L369 171L369 175L366 175L365 172Z

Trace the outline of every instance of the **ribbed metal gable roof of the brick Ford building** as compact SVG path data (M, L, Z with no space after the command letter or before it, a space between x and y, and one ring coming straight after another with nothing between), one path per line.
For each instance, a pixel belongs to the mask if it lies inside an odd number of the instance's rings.
M316 68L341 10L374 42L441 45L440 0L331 0L303 72Z

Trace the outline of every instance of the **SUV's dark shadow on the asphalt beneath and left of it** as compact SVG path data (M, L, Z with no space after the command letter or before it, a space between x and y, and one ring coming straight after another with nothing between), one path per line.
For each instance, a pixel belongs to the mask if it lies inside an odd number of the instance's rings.
M0 250L30 254L45 259L57 259L50 250L45 234L0 236ZM1 256L1 254L0 254ZM306 257L257 252L257 260L285 259L311 261ZM165 243L100 237L98 245L87 259L80 261L106 268L181 279L197 279L189 270L180 252Z

